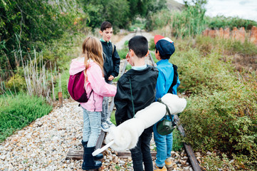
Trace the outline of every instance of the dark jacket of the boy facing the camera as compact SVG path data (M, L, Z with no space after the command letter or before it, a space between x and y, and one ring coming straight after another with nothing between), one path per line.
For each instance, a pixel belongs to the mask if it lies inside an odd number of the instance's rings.
M116 77L119 75L120 70L120 56L116 51L116 46L114 46L114 51L112 54L112 43L100 41L103 46L103 53L104 53L104 63L103 69L105 73L105 81L108 80L110 75Z

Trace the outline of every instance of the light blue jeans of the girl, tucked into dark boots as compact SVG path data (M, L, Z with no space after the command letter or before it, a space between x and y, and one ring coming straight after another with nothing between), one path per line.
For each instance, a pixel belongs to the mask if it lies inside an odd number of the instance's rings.
M90 112L83 108L83 141L88 142L87 147L95 147L101 132L100 112Z

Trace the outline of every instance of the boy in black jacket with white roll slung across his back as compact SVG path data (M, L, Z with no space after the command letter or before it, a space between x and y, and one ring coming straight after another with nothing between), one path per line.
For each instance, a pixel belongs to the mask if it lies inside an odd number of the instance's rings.
M155 98L155 86L158 78L158 70L145 64L145 56L148 55L148 42L144 36L135 36L129 41L129 53L127 61L132 69L124 73L117 82L115 95L115 120L120 125L125 120L133 118L137 111L146 108ZM152 171L152 156L150 153L150 140L152 139L152 127L144 130L135 148L130 149L135 171Z

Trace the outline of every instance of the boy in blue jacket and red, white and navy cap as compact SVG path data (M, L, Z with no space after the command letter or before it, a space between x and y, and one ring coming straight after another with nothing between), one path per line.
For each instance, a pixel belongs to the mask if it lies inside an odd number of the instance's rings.
M174 42L169 38L163 36L154 36L155 43L155 57L157 60L157 69L159 76L156 84L155 100L162 98L163 95L169 93L177 95L177 87L180 84L179 77L174 74L177 73L177 66L169 63L169 58L175 51ZM173 84L172 84L173 83ZM169 115L164 118L171 120ZM164 119L162 118L162 120ZM157 123L154 124L154 141L157 147L157 159L155 161L156 170L154 171L167 171L167 167L172 167L170 155L172 152L172 133L168 135L159 135L157 133ZM165 167L166 165L166 167Z

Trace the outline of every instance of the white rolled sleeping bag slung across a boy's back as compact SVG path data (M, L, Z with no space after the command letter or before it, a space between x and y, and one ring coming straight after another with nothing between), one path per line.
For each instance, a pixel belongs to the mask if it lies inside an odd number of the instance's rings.
M162 102L168 106L172 115L182 113L187 106L186 99L179 98L179 96L171 93L164 95ZM157 123L165 114L166 106L162 103L154 102L147 108L138 111L135 114L135 118L126 120L117 127L109 128L109 133L106 135L105 140L112 150L117 152L131 149L137 145L137 140L142 132Z

